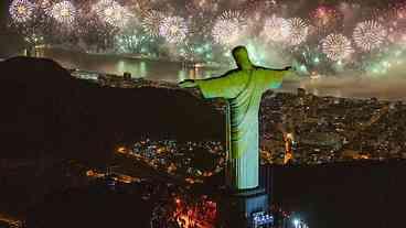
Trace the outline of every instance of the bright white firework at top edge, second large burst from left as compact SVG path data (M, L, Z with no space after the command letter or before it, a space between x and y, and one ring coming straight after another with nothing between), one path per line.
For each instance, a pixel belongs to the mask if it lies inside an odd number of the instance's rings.
M52 7L51 17L61 24L73 25L76 8L70 1L61 1Z

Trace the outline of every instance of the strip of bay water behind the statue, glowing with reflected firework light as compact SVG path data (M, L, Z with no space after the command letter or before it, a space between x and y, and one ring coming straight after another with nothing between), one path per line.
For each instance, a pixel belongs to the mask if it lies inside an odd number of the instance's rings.
M47 55L47 56L46 56ZM77 56L81 57L77 57ZM120 55L104 55L104 54L79 54L75 52L57 50L56 52L50 50L45 53L45 56L54 59L65 68L78 68L83 70L107 73L115 75L122 75L124 72L130 72L133 77L140 77L139 74L142 68L139 68L145 64L146 79L150 80L164 80L169 83L178 83L180 78L181 69L180 62L161 62L153 59L142 59L142 58L128 58L126 56L120 57ZM159 65L157 65L160 63ZM158 66L162 66L157 68ZM119 67L119 68L117 68ZM150 68L152 67L152 68ZM167 69L167 68L168 69ZM209 76L220 76L224 72L231 68L221 67L217 69L199 69L194 77L206 77ZM192 70L192 68L188 69ZM184 78L191 77L191 72L184 72ZM195 74L195 73L193 73ZM308 93L316 96L333 96L342 98L356 98L356 99L370 99L377 98L380 100L405 100L406 90L406 76L403 77L402 73L398 76L389 77L368 77L354 74L353 76L346 75L346 77L340 76L329 76L319 79L310 79L308 77L303 78L288 78L284 80L282 87L276 91L288 91L296 93L297 88L304 88Z

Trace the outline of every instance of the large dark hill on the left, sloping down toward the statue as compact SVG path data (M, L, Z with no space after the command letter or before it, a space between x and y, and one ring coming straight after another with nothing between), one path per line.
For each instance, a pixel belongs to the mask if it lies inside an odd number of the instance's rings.
M2 158L105 160L140 137L222 139L223 117L184 90L109 88L50 59L0 62Z

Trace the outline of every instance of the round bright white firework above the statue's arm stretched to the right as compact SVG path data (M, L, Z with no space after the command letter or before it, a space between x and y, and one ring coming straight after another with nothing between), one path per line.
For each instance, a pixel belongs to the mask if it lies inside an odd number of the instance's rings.
M265 20L263 35L268 41L286 42L290 36L289 22L284 18L278 18L275 14Z

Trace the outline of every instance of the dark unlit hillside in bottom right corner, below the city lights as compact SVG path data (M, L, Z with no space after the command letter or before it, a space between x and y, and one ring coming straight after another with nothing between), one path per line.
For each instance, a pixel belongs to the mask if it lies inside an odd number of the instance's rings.
M270 167L269 167L270 169ZM274 202L309 227L404 227L406 161L275 166Z

